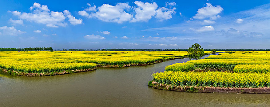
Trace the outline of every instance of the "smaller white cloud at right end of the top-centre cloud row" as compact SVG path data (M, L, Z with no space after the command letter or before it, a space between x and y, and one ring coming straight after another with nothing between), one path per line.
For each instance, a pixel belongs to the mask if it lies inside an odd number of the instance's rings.
M156 18L159 19L160 21L170 19L172 18L172 14L176 13L176 11L174 11L175 9L176 9L175 7L173 9L160 7L157 9Z

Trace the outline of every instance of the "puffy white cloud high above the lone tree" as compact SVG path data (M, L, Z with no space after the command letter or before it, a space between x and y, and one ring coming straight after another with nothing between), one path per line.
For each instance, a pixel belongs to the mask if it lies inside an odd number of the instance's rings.
M194 19L204 19L209 17L211 20L215 20L220 17L220 15L217 14L223 11L221 6L212 6L210 3L206 3L206 5L206 7L198 9L197 14L193 17Z

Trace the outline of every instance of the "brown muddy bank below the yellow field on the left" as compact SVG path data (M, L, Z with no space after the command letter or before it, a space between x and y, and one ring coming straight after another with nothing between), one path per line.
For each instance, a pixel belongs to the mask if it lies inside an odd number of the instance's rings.
M10 71L6 69L2 69L2 72L7 72L13 75L18 75L18 76L53 76L53 75L63 75L63 74L69 74L69 73L75 73L75 72L86 72L86 71L92 71L96 70L96 68L93 69L76 69L76 70L64 70L62 72L44 72L44 73L26 73L26 72L17 72L17 71Z

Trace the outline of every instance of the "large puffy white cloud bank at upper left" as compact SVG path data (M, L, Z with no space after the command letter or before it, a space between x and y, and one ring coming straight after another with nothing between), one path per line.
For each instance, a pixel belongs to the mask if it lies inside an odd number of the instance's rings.
M38 24L46 24L47 27L58 28L59 26L66 26L66 16L62 12L50 11L50 9L48 9L48 6L41 5L36 2L33 4L33 6L30 7L30 10L31 13L21 13L17 10L12 11L11 13L14 16L18 16L19 19L28 20L30 22L35 22ZM67 17L69 17L69 21L71 24L81 24L81 19L76 19L71 14L67 15Z

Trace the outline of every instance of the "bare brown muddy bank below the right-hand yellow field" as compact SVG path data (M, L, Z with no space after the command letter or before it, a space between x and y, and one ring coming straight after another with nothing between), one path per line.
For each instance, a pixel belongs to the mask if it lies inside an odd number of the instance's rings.
M259 87L259 88L220 88L220 87L181 87L172 86L167 84L157 83L155 81L150 81L148 84L150 87L160 89L160 90L172 90L172 91L185 91L185 92L203 92L203 93L270 93L269 87Z

